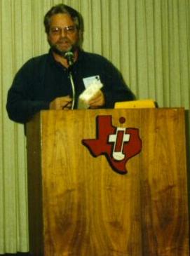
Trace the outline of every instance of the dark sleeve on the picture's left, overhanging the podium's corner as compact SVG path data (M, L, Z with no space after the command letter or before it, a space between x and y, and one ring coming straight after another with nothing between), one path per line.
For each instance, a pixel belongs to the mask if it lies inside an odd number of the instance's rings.
M18 123L27 123L41 109L48 109L49 102L33 100L34 60L29 60L15 75L11 88L8 90L6 109L8 117Z

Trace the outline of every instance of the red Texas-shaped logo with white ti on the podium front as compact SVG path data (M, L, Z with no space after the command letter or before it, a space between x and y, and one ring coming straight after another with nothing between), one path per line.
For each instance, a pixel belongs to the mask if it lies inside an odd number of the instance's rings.
M125 118L119 119L125 123ZM96 139L82 140L93 156L104 154L117 173L125 174L125 165L131 157L139 154L142 149L142 140L137 128L114 127L111 116L97 116Z

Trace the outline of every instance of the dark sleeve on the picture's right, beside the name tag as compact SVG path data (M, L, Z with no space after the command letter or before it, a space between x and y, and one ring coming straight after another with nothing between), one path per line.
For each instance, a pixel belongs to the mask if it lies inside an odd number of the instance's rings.
M126 85L123 76L109 61L104 65L103 83L102 91L106 101L106 108L113 108L115 102L135 100L135 95Z

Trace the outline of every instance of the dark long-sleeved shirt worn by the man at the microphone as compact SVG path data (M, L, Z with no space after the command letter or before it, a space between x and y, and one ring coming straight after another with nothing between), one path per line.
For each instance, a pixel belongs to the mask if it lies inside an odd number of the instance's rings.
M27 123L36 112L49 109L50 102L56 97L72 97L70 71L74 79L76 102L85 90L83 78L97 75L103 84L104 108L113 108L115 102L135 98L120 72L106 58L80 51L78 60L67 69L55 61L50 51L48 54L28 60L15 75L8 90L6 108L9 118L18 123ZM77 104L74 108L77 108Z

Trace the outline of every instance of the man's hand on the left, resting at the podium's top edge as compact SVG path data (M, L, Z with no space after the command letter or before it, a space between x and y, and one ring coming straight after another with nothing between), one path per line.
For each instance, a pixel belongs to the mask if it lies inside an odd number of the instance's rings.
M65 97L56 97L55 100L50 102L50 109L60 110L60 109L71 109L72 98L67 95Z

